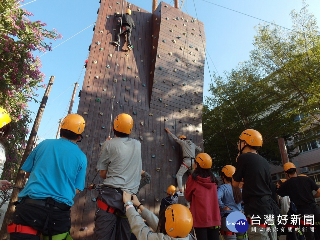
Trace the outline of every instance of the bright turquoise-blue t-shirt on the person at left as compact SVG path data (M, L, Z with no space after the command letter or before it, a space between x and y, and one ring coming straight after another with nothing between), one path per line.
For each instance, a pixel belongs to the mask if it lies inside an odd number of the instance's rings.
M44 140L21 167L30 172L30 177L18 197L52 197L72 206L76 188L84 189L86 167L87 158L74 142L64 138Z

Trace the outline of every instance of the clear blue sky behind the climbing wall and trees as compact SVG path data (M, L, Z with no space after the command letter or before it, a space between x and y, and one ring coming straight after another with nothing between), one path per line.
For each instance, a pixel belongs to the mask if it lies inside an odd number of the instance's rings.
M318 19L319 25L320 1L306 0L306 2L309 4L310 12ZM151 12L152 0L133 0L131 3ZM48 24L47 29L55 28L63 36L62 40L52 42L54 48L52 52L44 55L35 53L42 61L41 70L46 76L44 83L48 83L51 75L55 76L38 131L39 141L41 141L56 137L59 119L66 116L68 112L73 84L79 82L72 109L73 113L77 112L78 93L82 88L85 73L84 61L89 54L88 47L92 42L93 23L97 19L100 4L99 0L36 0L34 2L25 0L23 4L27 4L23 7L34 14L31 20L41 20ZM166 1L166 4L172 5L173 1ZM253 48L254 26L265 20L291 28L290 11L293 9L299 11L301 7L300 0L185 0L181 10L204 22L208 59L205 64L204 96L210 95L207 90L213 71L217 71L222 76L224 71L230 71L239 62L249 58L249 52ZM44 89L38 91L38 100L41 101L44 92ZM33 117L36 116L38 108L39 104L29 104L29 109L34 112Z

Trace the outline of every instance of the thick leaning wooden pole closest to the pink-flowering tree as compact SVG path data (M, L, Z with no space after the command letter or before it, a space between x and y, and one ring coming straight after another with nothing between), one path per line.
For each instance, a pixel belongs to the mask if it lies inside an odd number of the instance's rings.
M23 188L25 183L26 183L26 179L24 177L26 172L21 170L21 167L24 164L24 162L26 161L26 159L29 156L30 152L32 151L32 147L33 147L33 144L35 142L36 135L37 135L37 132L38 132L38 129L39 129L39 125L40 125L40 122L41 122L41 118L42 118L42 115L43 115L43 112L44 112L44 108L45 108L45 105L47 104L48 97L49 97L49 94L51 92L53 81L54 81L54 76L51 76L50 80L49 80L49 84L47 86L47 89L46 89L46 91L44 93L44 96L42 98L42 101L41 101L41 104L40 104L40 107L39 107L39 110L38 110L38 113L37 113L37 116L36 116L36 120L35 120L35 122L34 122L34 124L32 126L32 130L31 130L31 133L30 133L30 136L29 136L29 140L28 140L28 143L27 143L27 146L26 146L26 150L24 151L24 154L23 154L22 159L21 159L20 170L17 173L16 181L14 183L15 187ZM12 222L12 214L13 214L14 209L15 209L15 206L14 206L13 203L18 200L18 194L19 194L19 190L17 188L13 188L13 191L12 191L12 194L11 194L11 199L10 199L10 202L9 202L9 205L8 205L8 209L7 209L7 212L5 213L4 221L3 221L3 224L2 224L2 227L1 227L0 239L3 239L3 240L8 239L7 225Z

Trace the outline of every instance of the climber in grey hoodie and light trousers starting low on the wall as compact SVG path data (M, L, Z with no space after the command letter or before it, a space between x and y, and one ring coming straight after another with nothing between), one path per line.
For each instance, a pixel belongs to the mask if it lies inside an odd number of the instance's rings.
M191 170L191 167L195 160L196 150L201 152L201 148L200 146L197 146L196 144L194 144L191 140L187 140L187 137L185 135L181 135L179 138L177 138L170 132L169 128L165 128L164 130L168 132L172 137L172 139L175 140L182 148L183 160L176 176L177 176L177 182L178 182L178 188L179 188L179 191L177 193L178 193L178 196L183 197L184 196L182 192L183 174L185 174L188 170Z

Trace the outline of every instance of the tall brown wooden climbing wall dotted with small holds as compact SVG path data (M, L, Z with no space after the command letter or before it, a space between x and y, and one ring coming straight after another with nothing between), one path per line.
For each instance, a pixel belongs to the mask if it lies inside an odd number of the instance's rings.
M164 128L177 136L186 135L203 148L204 25L164 2L153 14L124 3L123 7L116 0L100 1L77 112L86 121L79 147L88 159L86 187L101 184L103 180L96 175L101 145L115 116L131 115L131 137L140 140L142 169L151 175L139 198L158 214L167 187L177 186L175 174L182 162L180 146ZM118 50L111 43L120 23L114 12L129 7L136 24L131 37L134 47L128 51L121 36ZM184 184L186 180L187 174ZM96 190L85 189L75 197L71 210L74 239L92 239L97 195ZM179 203L188 205L184 197Z

